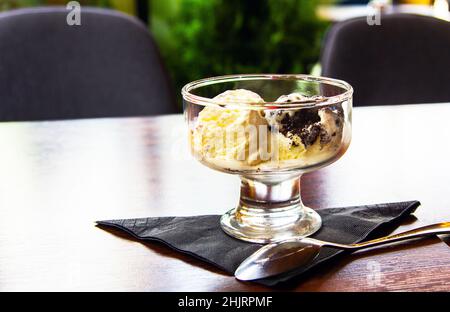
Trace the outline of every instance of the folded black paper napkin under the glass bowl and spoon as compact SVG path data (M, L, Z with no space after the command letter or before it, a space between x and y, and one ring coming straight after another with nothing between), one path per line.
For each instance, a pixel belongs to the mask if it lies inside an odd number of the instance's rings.
M402 217L412 213L419 205L418 201L409 201L318 209L323 225L311 237L344 244L361 242L382 226L399 224ZM228 236L220 228L219 219L219 215L205 215L108 220L97 221L97 224L123 230L138 240L161 242L176 251L234 274L239 264L262 245ZM287 282L341 252L337 249L323 248L307 268L261 279L258 282L267 286Z

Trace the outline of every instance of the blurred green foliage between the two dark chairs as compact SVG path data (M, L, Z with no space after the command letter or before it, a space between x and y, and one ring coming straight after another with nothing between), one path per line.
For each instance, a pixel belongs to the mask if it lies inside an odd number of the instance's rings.
M152 2L151 30L179 90L207 76L308 73L328 24L321 0Z

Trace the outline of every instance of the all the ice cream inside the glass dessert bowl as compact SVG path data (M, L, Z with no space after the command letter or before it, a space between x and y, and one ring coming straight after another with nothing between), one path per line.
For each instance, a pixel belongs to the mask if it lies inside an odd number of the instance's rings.
M281 96L277 102L305 98L294 93ZM239 103L243 102L264 103L252 91L228 90L214 100L236 106L205 107L198 114L192 129L191 145L194 155L218 167L239 170L247 167L261 169L309 165L330 157L341 140L342 125L336 124L336 113L327 109L317 109L314 115L317 121L301 128L296 127L299 120L300 123L302 118L309 122L307 115L300 115L307 114L306 110L251 110L239 107ZM279 131L284 118L287 118L288 124L289 120L293 120L292 131L286 128ZM305 138L303 132L297 131L302 129L306 135L313 135Z

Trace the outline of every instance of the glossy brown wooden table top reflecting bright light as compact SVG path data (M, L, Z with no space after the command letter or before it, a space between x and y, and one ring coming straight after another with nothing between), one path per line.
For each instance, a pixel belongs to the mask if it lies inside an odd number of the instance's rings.
M450 104L356 108L349 151L304 177L305 203L418 199L418 220L399 230L449 221L449 116ZM238 179L192 160L184 131L181 115L1 123L0 291L268 290L95 227L236 203ZM429 238L348 255L295 290L449 291L450 247Z

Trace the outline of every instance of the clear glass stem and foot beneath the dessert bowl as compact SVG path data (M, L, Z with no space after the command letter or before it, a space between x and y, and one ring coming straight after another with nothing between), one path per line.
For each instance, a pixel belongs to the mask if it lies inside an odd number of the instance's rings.
M268 243L311 235L321 219L302 203L300 176L276 180L241 176L239 204L222 216L221 226L233 237Z

